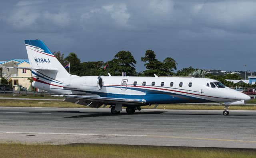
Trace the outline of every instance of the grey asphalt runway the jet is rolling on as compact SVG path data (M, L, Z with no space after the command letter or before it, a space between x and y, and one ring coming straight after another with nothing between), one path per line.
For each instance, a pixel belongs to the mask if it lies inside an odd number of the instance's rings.
M256 111L0 107L0 142L256 148Z

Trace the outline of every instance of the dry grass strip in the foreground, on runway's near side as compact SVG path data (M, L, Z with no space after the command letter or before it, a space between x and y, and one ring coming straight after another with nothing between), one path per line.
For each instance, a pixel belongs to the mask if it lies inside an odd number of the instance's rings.
M3 158L255 158L255 150L110 144L0 144Z

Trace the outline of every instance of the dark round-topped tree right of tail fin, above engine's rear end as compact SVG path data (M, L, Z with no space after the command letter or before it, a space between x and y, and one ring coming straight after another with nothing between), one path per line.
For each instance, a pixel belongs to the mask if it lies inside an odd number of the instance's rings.
M64 60L70 62L70 73L75 75L80 75L81 65L80 59L74 52L71 52Z

